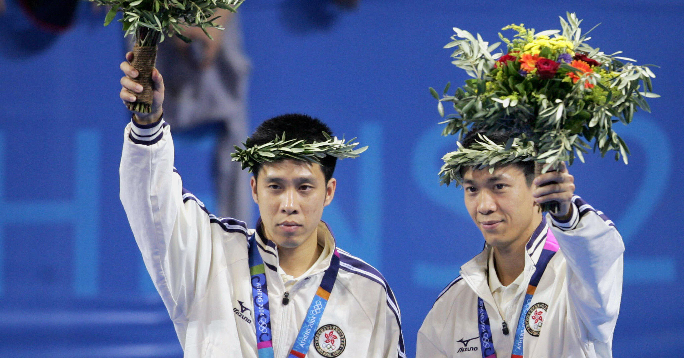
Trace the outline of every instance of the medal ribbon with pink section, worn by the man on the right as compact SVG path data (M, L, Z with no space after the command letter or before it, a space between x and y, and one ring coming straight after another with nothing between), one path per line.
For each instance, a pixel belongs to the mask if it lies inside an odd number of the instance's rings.
M549 261L558 252L558 241L556 241L555 236L551 232L551 228L547 229L547 241L544 243L544 248L542 253L537 260L537 265L534 265L536 269L532 274L532 278L529 279L529 285L527 286L527 293L525 294L525 301L523 301L523 310L520 312L520 318L518 318L518 327L515 331L515 338L513 340L513 352L511 354L512 358L523 358L523 338L525 338L525 316L529 306L532 304L532 296L534 291L537 289L539 280L541 280L544 271L547 269ZM492 329L489 325L489 316L487 315L487 310L484 308L484 301L477 297L477 330L479 331L479 344L482 349L482 358L496 358L497 353L494 349L494 340L492 340Z

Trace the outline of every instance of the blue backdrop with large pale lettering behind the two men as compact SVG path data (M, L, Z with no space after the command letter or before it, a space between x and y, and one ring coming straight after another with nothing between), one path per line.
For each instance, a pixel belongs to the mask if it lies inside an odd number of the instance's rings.
M588 155L570 172L577 194L616 222L627 246L614 355L684 351L684 170L676 157L684 145L684 1L361 0L355 11L319 1L315 12L305 3L248 0L241 8L252 128L308 113L371 145L339 163L324 219L342 248L390 282L410 357L436 295L482 248L462 192L436 177L456 138L438 136L428 87L466 79L442 48L451 28L496 42L510 23L559 29L558 16L577 12L583 29L602 23L593 46L660 65L653 113L617 129L630 164ZM104 14L81 4L71 29L27 57L12 52L7 29L29 23L8 6L0 16L0 356L180 357L118 200L127 123L118 100L120 25L102 27ZM176 138L185 186L210 206L214 140Z

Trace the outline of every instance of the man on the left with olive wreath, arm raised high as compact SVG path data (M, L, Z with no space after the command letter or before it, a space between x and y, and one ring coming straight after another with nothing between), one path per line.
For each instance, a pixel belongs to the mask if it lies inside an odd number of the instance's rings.
M128 61L120 98L133 102L142 87ZM389 285L321 222L337 158L365 148L305 115L262 123L233 154L254 174L261 218L248 229L183 188L157 70L153 82L151 113L125 130L120 198L185 357L406 357Z

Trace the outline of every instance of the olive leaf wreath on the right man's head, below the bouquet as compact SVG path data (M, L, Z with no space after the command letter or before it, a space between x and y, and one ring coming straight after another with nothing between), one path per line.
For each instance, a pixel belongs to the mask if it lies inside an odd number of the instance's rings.
M468 148L457 142L458 150L444 155L444 165L439 170L440 183L447 184L456 181L462 185L462 172L466 167L474 169L489 168L493 173L495 165L513 162L527 162L534 160L536 149L534 142L525 142L521 138L511 138L505 145L492 142L487 136L477 134L479 139Z

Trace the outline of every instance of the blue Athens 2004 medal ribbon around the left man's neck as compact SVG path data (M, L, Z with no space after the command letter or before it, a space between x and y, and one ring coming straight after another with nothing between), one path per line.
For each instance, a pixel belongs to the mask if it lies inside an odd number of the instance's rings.
M252 276L252 298L254 299L254 324L257 327L257 352L259 358L273 358L273 335L271 332L271 312L268 305L266 271L255 237L256 235L253 234L249 239L249 265ZM304 358L306 356L308 347L313 341L315 329L326 310L332 286L337 280L339 267L340 258L336 248L330 259L330 266L323 274L321 285L306 311L306 318L304 318L304 323L302 323L288 358Z

